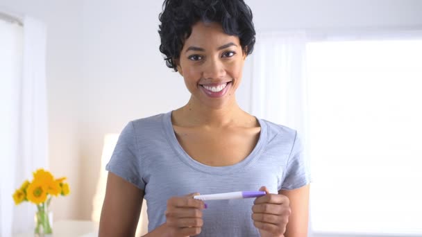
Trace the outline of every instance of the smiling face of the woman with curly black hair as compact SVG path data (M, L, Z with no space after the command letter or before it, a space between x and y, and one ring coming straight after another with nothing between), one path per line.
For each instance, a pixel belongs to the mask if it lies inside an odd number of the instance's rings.
M214 109L233 103L245 59L239 37L224 33L220 24L192 26L178 60L191 102Z

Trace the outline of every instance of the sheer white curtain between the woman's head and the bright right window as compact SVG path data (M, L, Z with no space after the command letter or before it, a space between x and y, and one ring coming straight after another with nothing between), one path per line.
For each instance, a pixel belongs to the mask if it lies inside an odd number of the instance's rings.
M305 55L305 32L257 35L251 57L251 114L297 130L309 159Z

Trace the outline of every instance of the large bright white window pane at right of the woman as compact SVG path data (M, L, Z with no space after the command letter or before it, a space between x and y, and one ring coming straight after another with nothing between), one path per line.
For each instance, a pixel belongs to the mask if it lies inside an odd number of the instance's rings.
M422 40L307 44L316 232L422 234Z

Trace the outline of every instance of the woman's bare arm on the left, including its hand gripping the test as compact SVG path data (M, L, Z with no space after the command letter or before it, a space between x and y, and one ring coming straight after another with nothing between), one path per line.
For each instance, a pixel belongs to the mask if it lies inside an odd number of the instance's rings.
M194 200L193 195L170 198L167 202L166 222L145 237L199 234L203 225L201 210L204 208L204 203L201 200ZM143 198L143 190L109 172L101 211L99 237L135 236Z

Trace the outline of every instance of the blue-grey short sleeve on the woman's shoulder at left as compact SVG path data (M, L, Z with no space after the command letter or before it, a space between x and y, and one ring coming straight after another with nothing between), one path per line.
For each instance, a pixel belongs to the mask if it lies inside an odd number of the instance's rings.
M133 122L130 122L121 132L112 157L105 166L105 170L126 179L126 181L144 190L142 164L138 154L135 128L133 127Z

